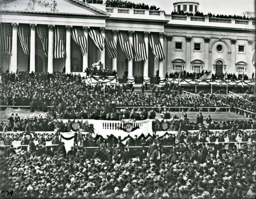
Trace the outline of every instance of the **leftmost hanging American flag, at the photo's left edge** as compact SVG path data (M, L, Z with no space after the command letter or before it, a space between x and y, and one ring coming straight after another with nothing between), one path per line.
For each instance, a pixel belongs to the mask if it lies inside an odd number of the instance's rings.
M0 24L0 48L2 53L12 55L12 25L1 23Z

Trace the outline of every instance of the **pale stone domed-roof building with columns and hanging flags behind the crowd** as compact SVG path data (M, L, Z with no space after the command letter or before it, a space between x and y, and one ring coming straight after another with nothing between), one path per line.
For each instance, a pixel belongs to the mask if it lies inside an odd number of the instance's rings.
M168 9L196 13L201 11L199 3L205 2L180 0ZM255 21L170 15L161 9L111 8L82 0L1 1L1 68L52 73L65 66L66 73L82 73L101 60L104 68L128 80L135 75L147 79L158 70L160 78L180 70L227 71L251 78ZM75 33L83 40L75 41ZM105 39L105 46L99 46L97 35ZM152 50L150 38L162 49ZM141 43L145 56L129 56L125 44L136 49Z

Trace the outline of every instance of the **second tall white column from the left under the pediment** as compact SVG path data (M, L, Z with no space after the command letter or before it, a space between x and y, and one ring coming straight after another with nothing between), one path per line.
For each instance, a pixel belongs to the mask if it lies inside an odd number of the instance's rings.
M30 67L29 72L35 72L36 58L36 24L30 24Z

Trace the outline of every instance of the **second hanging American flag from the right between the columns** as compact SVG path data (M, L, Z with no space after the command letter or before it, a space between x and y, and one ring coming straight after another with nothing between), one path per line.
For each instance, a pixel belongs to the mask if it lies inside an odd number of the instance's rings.
M142 61L142 60L148 59L144 33L135 32L133 36L133 47L134 47L135 61Z

